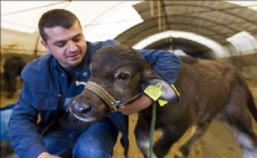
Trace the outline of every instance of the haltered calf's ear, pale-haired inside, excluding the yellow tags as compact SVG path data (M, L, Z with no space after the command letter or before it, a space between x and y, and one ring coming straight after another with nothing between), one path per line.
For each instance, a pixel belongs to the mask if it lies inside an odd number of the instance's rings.
M159 99L176 103L179 101L179 93L174 85L168 84L159 75L154 74L149 68L145 69L141 78L141 91L143 92L149 85L161 85L161 95Z

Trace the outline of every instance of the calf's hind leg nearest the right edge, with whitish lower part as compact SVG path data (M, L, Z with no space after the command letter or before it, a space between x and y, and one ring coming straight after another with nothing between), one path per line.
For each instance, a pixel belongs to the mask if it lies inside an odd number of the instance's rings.
M238 82L233 86L226 108L222 111L220 118L227 122L228 127L232 129L237 137L243 150L244 158L256 158L257 136L253 131L249 110L252 111L253 118L256 118L253 96L245 83Z

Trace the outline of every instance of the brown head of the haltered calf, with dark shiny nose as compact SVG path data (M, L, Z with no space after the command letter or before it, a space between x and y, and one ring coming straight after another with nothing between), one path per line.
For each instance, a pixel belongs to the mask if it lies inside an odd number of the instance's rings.
M170 85L154 74L146 60L133 48L119 45L100 49L92 57L90 73L89 87L86 83L86 88L69 106L73 116L82 121L94 121L116 110L116 107L108 106L108 101L101 96L106 94L99 94L103 91L110 94L115 101L131 102L148 85L162 83L160 98L174 101L177 97ZM95 84L97 86L93 86ZM90 86L97 90L92 91Z

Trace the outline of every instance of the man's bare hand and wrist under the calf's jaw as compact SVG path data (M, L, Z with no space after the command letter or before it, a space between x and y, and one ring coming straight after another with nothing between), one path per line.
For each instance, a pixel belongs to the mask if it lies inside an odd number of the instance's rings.
M152 103L152 100L147 95L142 95L138 100L133 101L131 104L127 104L124 108L120 108L119 111L124 113L124 115L131 115L140 110L148 108Z

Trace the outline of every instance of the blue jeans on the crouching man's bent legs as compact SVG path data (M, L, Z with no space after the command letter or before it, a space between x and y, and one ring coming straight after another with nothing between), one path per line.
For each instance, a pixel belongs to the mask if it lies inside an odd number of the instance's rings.
M50 130L43 137L47 151L62 158L111 158L117 135L116 126L107 119L82 132Z

